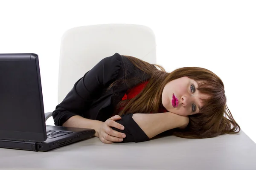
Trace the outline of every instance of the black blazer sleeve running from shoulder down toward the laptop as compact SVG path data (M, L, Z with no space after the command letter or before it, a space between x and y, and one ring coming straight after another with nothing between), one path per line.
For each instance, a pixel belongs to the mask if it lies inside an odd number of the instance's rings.
M72 116L84 113L95 96L112 80L116 79L121 68L122 57L116 53L105 57L81 77L52 112L54 124L62 126Z

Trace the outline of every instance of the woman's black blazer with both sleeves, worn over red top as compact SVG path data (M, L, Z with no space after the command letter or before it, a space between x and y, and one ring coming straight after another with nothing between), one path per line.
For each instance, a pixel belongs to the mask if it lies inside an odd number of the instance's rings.
M122 84L118 88L107 91L112 82L124 78L137 78L140 81L131 81L129 85ZM56 106L56 110L52 113L55 125L61 126L75 115L105 122L114 113L115 106L121 101L126 91L149 78L148 74L140 71L130 60L118 53L106 57L81 77L64 100ZM148 140L148 136L137 125L132 115L133 113L125 114L121 120L116 121L125 127L124 130L115 127L112 129L126 134L123 142Z

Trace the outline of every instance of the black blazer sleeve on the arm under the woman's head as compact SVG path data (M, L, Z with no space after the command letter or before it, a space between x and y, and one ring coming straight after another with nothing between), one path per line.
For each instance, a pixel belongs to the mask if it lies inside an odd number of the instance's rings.
M125 114L122 119L116 121L125 127L124 130L119 130L115 127L111 127L113 130L125 133L126 137L122 142L144 142L149 138L140 126L132 118L133 113Z

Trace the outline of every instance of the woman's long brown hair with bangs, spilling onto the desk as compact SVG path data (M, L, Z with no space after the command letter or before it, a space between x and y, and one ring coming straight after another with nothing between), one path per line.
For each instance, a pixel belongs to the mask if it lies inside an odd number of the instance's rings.
M118 114L126 113L158 113L162 105L164 86L180 77L189 77L198 82L198 91L207 94L208 99L202 99L203 107L200 113L189 116L189 124L185 129L175 128L172 133L183 138L210 138L225 133L239 133L240 126L234 120L229 108L221 79L205 68L183 67L167 73L163 67L150 64L131 56L128 58L137 68L150 75L145 88L132 99L119 102L117 108L122 108ZM158 68L157 68L158 67ZM123 80L128 83L129 80ZM109 88L114 86L113 82ZM118 109L117 109L118 110ZM237 131L238 130L238 131Z

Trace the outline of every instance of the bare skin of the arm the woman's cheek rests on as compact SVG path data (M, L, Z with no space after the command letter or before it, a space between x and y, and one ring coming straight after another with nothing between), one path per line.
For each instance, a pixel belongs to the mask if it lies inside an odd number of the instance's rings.
M175 113L135 113L132 118L145 132L148 138L152 138L166 130L182 127L186 123L185 116Z

